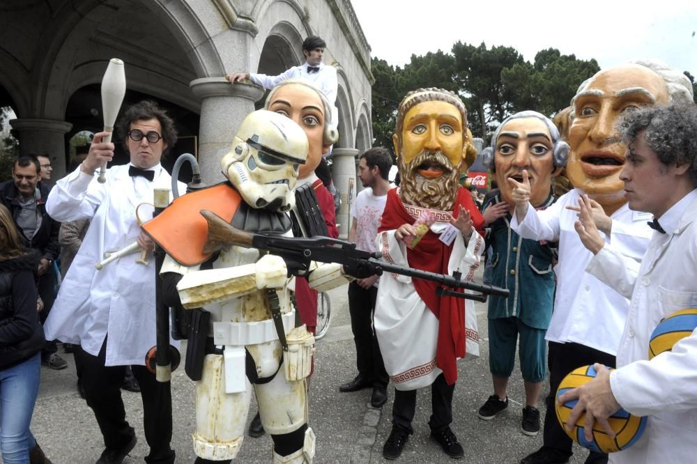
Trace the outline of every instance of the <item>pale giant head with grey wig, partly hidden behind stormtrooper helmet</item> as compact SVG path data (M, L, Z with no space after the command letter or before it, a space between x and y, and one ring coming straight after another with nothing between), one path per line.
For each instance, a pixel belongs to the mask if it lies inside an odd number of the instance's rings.
M322 155L339 139L332 125L332 107L322 91L300 79L287 79L271 89L266 104L269 111L295 121L307 134L309 153L300 167L298 178L304 179L317 169Z

